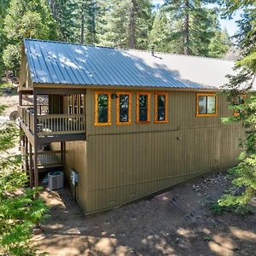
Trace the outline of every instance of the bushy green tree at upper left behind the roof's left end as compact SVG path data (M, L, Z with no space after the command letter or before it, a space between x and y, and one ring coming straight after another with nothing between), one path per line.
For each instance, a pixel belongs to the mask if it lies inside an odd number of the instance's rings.
M56 39L55 21L44 0L11 0L4 19L7 44L3 50L5 67L18 73L22 38Z

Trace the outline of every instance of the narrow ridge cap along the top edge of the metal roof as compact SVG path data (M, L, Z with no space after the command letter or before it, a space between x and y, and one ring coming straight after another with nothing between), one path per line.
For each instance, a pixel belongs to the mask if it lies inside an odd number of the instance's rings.
M125 51L137 51L137 52L151 53L151 50L149 50L149 49L127 49L127 48L103 46L103 45L97 45L97 44L80 44L80 43L63 42L63 41L58 41L58 40L45 40L45 39L36 39L36 38L24 38L24 41L38 41L38 42L57 43L57 44L72 44L72 45L80 45L80 46L89 46L89 47L98 47L98 48L107 48L107 49L120 49L120 50L125 50ZM159 54L159 55L174 55L174 56L180 56L180 57L184 57L184 58L197 58L197 59L207 59L207 60L213 60L213 61L234 62L234 61L231 61L231 60L224 60L224 59L220 59L220 58L213 58L213 57L207 57L207 56L182 55L182 54L169 53L169 52L161 52L161 51L154 51L154 53L155 54Z

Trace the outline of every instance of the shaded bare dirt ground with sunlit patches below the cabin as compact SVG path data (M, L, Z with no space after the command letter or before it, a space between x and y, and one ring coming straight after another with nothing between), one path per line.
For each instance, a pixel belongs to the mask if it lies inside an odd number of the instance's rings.
M256 218L214 216L212 201L230 185L224 174L161 195L84 216L68 189L45 190L51 207L33 244L49 255L256 255ZM256 205L256 204L254 204Z

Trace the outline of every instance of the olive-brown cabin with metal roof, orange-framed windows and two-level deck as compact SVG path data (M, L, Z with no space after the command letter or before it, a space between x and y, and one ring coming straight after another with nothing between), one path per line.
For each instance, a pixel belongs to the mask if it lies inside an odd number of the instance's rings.
M233 66L25 39L18 110L30 186L41 172L64 170L91 213L236 165L244 131L221 122L233 115L221 93Z

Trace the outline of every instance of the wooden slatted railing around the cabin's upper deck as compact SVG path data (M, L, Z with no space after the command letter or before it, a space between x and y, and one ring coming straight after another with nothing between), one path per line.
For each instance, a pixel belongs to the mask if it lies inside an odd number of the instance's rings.
M18 106L18 112L22 121L34 133L33 108ZM84 114L38 114L37 129L38 136L84 133Z

